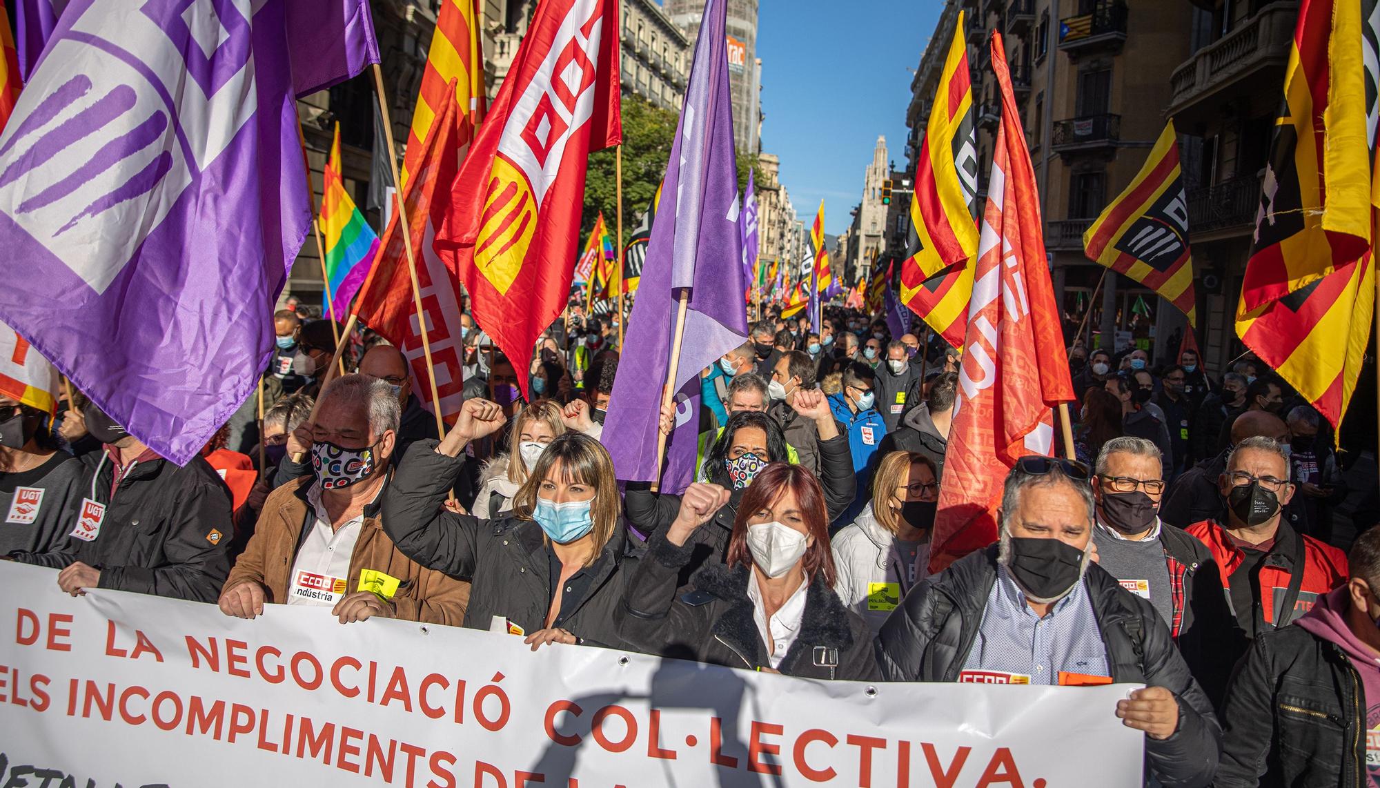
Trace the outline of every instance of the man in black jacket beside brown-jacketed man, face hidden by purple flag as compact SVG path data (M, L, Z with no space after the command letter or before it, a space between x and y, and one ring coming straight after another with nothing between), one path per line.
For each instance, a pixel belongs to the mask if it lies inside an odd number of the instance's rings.
M86 466L79 511L66 538L47 552L15 552L23 563L59 569L58 587L213 602L230 569L230 491L201 457L178 466L159 457L94 402L81 408L103 450Z

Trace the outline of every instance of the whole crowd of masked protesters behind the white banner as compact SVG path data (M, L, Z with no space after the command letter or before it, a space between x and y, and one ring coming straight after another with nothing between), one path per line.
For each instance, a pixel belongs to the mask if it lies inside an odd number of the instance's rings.
M701 373L675 495L620 486L599 442L617 316L573 306L529 368L466 316L442 440L402 352L290 306L262 393L182 466L80 392L52 421L0 399L0 555L73 595L241 618L312 606L816 679L1137 683L1108 725L1144 731L1147 785L1380 785L1380 529L1334 546L1333 435L1257 360L1075 344L1076 460L1020 460L999 540L931 575L962 364L941 342L856 311L753 323Z

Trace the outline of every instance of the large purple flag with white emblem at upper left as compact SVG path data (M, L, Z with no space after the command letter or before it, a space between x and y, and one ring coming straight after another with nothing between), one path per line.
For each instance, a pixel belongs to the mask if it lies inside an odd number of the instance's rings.
M0 135L23 261L0 320L175 462L268 364L312 222L297 95L378 58L366 0L255 7L70 0ZM295 70L299 41L319 48Z

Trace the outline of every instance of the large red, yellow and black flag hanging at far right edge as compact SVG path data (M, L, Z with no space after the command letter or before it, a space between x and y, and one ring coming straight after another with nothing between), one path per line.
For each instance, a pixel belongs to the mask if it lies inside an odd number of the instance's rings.
M1362 6L1370 12L1362 15ZM1341 426L1374 313L1376 130L1365 81L1380 77L1366 0L1304 0L1275 123L1236 334ZM1369 108L1373 110L1374 108Z

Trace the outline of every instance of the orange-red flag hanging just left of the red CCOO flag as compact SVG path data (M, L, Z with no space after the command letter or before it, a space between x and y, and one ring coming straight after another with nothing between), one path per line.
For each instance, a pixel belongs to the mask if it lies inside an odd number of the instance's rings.
M454 424L460 414L464 399L461 389L465 382L461 368L464 346L460 288L454 272L447 270L436 257L431 242L435 217L444 211L450 197L447 188L455 179L460 166L460 146L455 145L460 126L455 123L455 102L448 101L442 108L442 116L431 126L431 135L426 138L422 156L417 160L417 170L402 195L417 255L417 282L422 294L422 311L426 313L426 339L436 370L436 395L440 397L442 418L450 424ZM360 297L355 301L355 313L366 326L403 352L411 370L413 393L428 410L436 413L417 322L411 275L403 247L403 232L399 213L393 211L388 229L384 230L378 255L368 270L368 279L364 280Z

